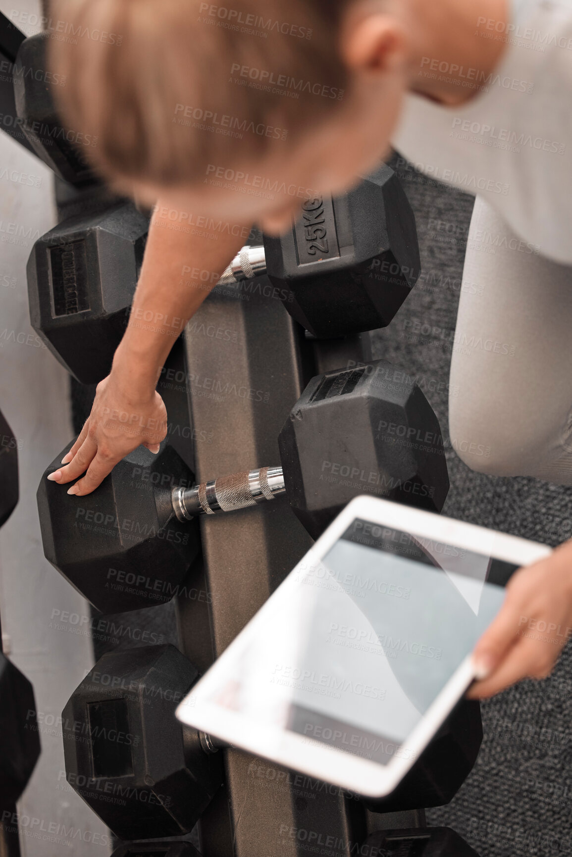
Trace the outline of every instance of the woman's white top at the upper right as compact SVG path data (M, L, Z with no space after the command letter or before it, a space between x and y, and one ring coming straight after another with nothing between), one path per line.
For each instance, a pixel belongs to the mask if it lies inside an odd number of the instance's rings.
M393 144L419 170L482 196L541 255L572 264L572 0L513 0L475 33L507 48L467 104L409 94ZM424 57L419 75L451 73ZM461 75L474 86L476 69Z

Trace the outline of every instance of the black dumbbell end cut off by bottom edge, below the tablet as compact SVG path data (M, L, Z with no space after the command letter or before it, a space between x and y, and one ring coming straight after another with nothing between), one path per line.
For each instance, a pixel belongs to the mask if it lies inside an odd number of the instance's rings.
M376 857L479 857L449 827L380 830L368 836L362 848L364 854Z

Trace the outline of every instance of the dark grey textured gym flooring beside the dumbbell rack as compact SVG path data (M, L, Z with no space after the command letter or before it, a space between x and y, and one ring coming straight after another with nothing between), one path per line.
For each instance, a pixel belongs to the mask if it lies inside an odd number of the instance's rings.
M392 165L417 218L423 274L391 327L373 334L374 357L417 376L437 411L449 446L451 489L443 513L556 546L572 537L572 488L480 475L448 441L449 364L473 197L427 179L400 159ZM408 341L407 322L416 321L442 333ZM89 393L74 385L76 431L87 417ZM137 645L129 625L147 628L154 642L177 643L172 604L115 618L126 633L110 640L96 632L96 658L117 644ZM449 806L427 812L428 823L452 827L480 857L572 854L572 646L551 679L522 682L482 711L479 760Z

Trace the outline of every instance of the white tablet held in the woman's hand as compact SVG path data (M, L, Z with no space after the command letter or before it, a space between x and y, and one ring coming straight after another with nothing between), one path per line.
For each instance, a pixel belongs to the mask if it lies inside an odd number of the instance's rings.
M473 681L510 575L550 553L358 497L177 715L357 794L389 794Z

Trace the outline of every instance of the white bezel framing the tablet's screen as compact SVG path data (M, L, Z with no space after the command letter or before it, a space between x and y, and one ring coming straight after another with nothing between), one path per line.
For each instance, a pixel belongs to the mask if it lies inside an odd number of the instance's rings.
M356 518L371 524L404 530L413 536L486 554L518 566L528 566L537 560L544 559L551 554L551 548L474 524L442 518L431 512L400 506L377 497L357 497L330 524L310 551L304 555L298 566L292 569L284 583L268 598L264 606L178 706L179 720L189 726L213 734L256 756L268 758L308 776L331 782L340 788L375 798L393 791L467 690L475 677L471 656L461 664L435 702L425 712L417 727L413 729L409 738L401 745L403 755L394 756L388 764L378 764L369 759L354 756L352 753L343 752L288 730L263 727L259 722L251 722L236 711L222 708L208 701L214 689L220 686L219 675L221 672L226 674L226 664L232 662L233 653L241 645L244 635L248 634L250 637L251 633L256 633L257 624L268 615L268 612L280 608L282 597L292 587L300 584L296 572L319 564ZM380 735L381 739L382 735Z

